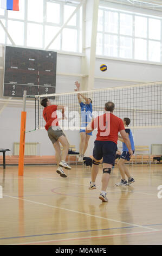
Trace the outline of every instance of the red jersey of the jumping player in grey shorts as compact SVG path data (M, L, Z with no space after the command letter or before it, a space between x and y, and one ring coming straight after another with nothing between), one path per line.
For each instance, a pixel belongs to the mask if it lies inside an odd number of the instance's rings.
M49 126L59 126L57 119L57 105L44 107L43 118L46 121L45 129L48 131Z

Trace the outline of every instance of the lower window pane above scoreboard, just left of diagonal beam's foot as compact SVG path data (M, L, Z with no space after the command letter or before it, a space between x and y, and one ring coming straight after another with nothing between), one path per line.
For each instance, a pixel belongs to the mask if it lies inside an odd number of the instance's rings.
M42 48L43 46L43 26L35 23L28 23L27 46Z

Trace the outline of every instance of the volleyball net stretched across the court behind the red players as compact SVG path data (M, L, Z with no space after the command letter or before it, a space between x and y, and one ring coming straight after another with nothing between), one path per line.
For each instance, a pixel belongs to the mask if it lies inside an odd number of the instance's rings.
M105 103L112 101L115 104L114 114L121 119L125 117L131 119L130 127L133 129L162 127L162 82L155 82L84 92L35 95L35 129L44 129L46 123L43 119L43 107L40 102L44 97L48 97L52 105L66 107L67 119L62 120L61 112L57 111L62 129L79 130L81 108L77 97L78 93L92 100L93 118L105 113ZM83 97L81 99L85 103Z

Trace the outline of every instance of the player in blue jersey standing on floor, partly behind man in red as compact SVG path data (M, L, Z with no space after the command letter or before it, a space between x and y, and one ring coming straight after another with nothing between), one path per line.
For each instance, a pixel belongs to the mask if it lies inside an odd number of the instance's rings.
M128 125L131 123L131 120L127 117L124 118L123 120L124 126L128 127ZM134 141L133 141L133 136L132 136L132 131L131 129L126 128L125 129L127 136L129 137L129 140L131 142L131 148L134 154ZM130 160L129 157L129 151L127 149L126 144L124 143L124 140L122 139L121 136L118 136L119 141L122 142L122 154L120 156L120 160L117 163L117 166L120 170L121 173L121 181L119 183L116 183L116 186L121 186L121 185L129 185L135 180L131 177L131 174L129 173L127 167L125 166L125 162ZM126 180L126 176L128 177L128 181Z

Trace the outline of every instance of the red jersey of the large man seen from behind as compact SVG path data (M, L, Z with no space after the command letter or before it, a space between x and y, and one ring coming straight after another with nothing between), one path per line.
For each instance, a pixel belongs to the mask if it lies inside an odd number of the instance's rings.
M92 122L92 128L98 129L96 141L112 141L116 144L118 142L118 132L125 130L122 119L111 113L96 117Z

